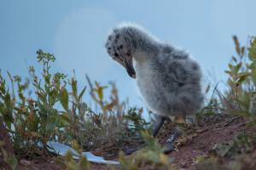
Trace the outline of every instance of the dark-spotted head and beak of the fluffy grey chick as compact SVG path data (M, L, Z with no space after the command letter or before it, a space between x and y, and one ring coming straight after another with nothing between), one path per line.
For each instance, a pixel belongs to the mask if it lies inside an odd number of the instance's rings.
M134 31L132 31L131 27L119 26L109 34L105 48L112 59L125 67L130 77L136 78L132 56L135 50L133 36Z

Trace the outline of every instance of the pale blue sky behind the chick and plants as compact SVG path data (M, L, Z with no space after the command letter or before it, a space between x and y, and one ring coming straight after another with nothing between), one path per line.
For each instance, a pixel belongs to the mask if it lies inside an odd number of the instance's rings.
M123 21L145 27L155 37L187 50L202 67L203 85L226 81L235 54L232 36L242 44L256 35L256 1L249 0L0 0L0 69L28 76L39 70L36 51L55 54L53 71L86 84L84 75L116 82L121 99L144 106L136 82L106 53L109 31Z

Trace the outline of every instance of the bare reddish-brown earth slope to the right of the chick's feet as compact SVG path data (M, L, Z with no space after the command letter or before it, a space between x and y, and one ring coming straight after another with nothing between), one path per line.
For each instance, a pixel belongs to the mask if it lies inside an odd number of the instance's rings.
M250 132L252 128L247 127L245 121L238 118L232 122L225 121L208 127L200 127L198 130L201 133L197 133L189 144L183 145L170 154L175 158L178 169L195 170L196 156L207 156L215 144L229 142L237 134L243 131Z

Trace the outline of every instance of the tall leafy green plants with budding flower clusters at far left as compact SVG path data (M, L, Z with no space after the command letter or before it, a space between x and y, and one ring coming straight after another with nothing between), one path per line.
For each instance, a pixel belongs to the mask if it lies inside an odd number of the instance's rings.
M9 80L12 85L11 92L3 76L0 76L0 112L8 127L15 149L26 148L32 152L42 144L47 149L47 141L55 139L55 127L64 127L66 120L55 109L61 99L61 88L66 86L62 81L66 76L61 73L51 74L50 63L55 61L53 54L38 50L38 62L43 65L42 79L35 74L35 69L30 67L32 87L34 94L29 92L26 96L29 80L22 83L20 76Z

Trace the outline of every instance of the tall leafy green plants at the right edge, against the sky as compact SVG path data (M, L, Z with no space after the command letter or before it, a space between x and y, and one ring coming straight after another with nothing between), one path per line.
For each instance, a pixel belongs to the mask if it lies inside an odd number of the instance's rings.
M229 92L222 96L225 109L235 115L245 116L256 124L256 38L252 37L249 47L241 47L237 37L236 54L232 56L229 70Z

